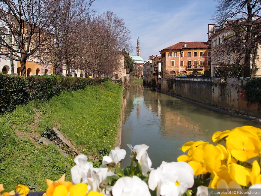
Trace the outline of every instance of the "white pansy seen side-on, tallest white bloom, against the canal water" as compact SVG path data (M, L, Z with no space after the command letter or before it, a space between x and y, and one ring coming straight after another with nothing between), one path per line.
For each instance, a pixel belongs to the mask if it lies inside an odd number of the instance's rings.
M131 149L133 155L136 156L136 159L140 164L142 174L145 175L146 173L151 171L153 169L151 168L152 162L147 152L149 146L147 146L146 144L135 145L134 147L132 147L130 144L127 145Z

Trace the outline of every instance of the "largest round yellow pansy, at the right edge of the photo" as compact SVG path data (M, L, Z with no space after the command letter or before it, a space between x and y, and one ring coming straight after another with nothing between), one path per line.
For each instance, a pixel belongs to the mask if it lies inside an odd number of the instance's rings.
M231 130L226 138L226 148L239 161L247 161L259 155L261 141L256 133L248 128L237 127Z

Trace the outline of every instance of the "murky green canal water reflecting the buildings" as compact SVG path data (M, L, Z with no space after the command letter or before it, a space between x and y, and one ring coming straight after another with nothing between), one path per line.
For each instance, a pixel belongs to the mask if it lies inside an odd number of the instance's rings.
M142 83L124 91L122 145L127 151L123 166L130 165L127 144L146 144L152 167L177 161L179 148L188 141L211 141L215 131L244 125L261 128L259 122L219 113L160 92Z

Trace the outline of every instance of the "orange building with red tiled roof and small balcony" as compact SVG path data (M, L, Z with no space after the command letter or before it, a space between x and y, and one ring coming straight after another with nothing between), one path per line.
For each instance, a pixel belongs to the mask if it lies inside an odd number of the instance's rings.
M202 41L179 42L164 48L161 53L161 77L165 73L210 75L211 44Z

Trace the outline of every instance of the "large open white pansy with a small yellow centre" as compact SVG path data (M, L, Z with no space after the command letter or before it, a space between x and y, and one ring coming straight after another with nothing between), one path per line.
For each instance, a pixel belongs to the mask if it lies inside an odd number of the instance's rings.
M186 162L162 162L160 167L152 170L149 175L149 188L157 195L180 196L194 184L194 171Z

